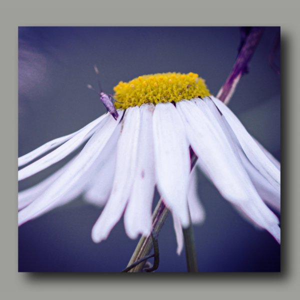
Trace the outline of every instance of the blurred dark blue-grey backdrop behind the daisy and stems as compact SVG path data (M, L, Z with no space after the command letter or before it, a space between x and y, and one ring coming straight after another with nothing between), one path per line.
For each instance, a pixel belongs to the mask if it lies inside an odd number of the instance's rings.
M229 107L248 131L280 160L280 78L268 55L278 27L267 27ZM155 72L196 72L216 95L236 58L238 27L19 27L19 143L21 156L44 142L78 130L105 112L102 88ZM279 50L276 62L279 64ZM68 158L67 158L68 159ZM67 161L19 183L37 183ZM280 246L266 231L244 221L199 173L206 220L194 226L199 271L279 271ZM154 204L158 200L155 195ZM107 240L92 242L100 208L80 198L19 227L19 271L118 272L138 239L129 239L122 219ZM157 272L186 271L176 254L169 216L158 238Z

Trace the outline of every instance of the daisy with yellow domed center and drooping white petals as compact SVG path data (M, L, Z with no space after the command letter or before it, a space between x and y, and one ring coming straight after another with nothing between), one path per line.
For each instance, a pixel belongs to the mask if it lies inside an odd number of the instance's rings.
M61 169L19 192L19 225L82 194L104 206L91 231L94 242L106 239L123 213L130 238L148 235L156 186L172 213L180 253L182 227L190 219L204 219L195 168L190 172L191 148L196 166L220 194L280 243L279 221L267 206L280 211L280 164L210 95L202 78L195 73L143 75L119 82L114 91L116 120L106 113L18 158L19 166L27 164L18 171L22 180L87 141Z

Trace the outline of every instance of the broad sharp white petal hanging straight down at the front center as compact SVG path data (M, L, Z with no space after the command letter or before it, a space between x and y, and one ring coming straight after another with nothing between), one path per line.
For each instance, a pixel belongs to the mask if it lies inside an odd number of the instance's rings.
M187 227L190 159L184 126L173 104L156 104L153 137L157 189L166 206L179 217L182 227Z

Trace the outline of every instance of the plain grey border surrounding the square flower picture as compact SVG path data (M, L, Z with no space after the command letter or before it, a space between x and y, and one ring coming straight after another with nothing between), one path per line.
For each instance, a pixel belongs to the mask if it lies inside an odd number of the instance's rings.
M300 201L296 199L299 184L296 168L299 161L297 129L299 118L296 113L299 101L296 82L299 65L298 11L295 1L87 1L78 4L72 1L52 0L41 3L36 0L5 1L1 4L1 294L45 299L52 295L68 295L82 298L95 295L102 297L188 297L209 296L230 298L259 298L267 294L279 299L282 296L294 298L299 280L299 218ZM236 11L240 13L237 14ZM283 212L284 272L272 276L263 274L120 274L77 276L64 274L26 274L17 272L17 226L16 226L16 155L17 155L17 26L29 25L281 25L282 36L282 118L284 130L282 143L284 170L284 193L282 200L288 204ZM297 59L297 60L296 60ZM283 64L284 63L284 64ZM4 93L3 93L4 91ZM293 99L293 100L291 100ZM297 105L297 106L296 106ZM290 157L290 158L289 158ZM291 160L292 159L292 160ZM292 164L291 164L292 163ZM299 194L299 193L297 193ZM291 209L292 208L292 209ZM260 296L261 295L261 296ZM10 296L11 297L11 296ZM206 297L205 297L206 298Z

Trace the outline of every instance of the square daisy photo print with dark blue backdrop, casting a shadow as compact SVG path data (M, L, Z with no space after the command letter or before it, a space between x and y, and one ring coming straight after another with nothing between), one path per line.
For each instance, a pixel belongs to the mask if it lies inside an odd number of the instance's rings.
M19 27L19 272L279 272L280 27Z

